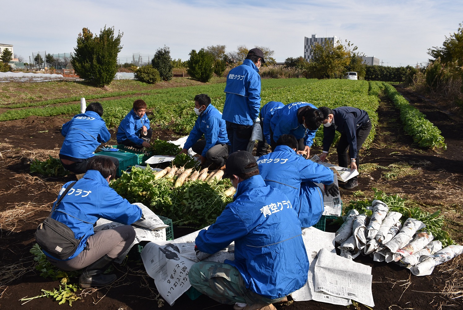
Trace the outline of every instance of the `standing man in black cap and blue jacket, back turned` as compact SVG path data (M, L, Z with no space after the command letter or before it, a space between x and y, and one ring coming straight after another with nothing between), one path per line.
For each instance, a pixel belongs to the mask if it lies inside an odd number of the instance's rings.
M248 148L252 125L259 122L261 77L258 72L262 63L265 63L262 50L253 48L243 65L228 73L222 118L226 121L230 153Z

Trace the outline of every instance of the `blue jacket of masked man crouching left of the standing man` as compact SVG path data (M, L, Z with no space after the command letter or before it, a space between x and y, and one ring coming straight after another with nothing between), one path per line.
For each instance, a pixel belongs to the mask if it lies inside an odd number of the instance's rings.
M225 121L222 119L222 113L212 104L209 104L206 110L202 111L201 115L196 119L183 148L191 148L202 135L204 135L204 139L206 140L206 146L201 154L203 157L206 157L207 151L214 145L230 144Z

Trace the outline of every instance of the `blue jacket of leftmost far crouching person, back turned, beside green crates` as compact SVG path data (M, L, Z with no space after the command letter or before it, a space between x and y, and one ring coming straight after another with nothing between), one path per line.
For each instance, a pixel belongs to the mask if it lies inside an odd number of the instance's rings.
M61 134L64 141L59 154L74 161L93 157L95 149L111 138L105 121L94 111L74 116L63 124Z

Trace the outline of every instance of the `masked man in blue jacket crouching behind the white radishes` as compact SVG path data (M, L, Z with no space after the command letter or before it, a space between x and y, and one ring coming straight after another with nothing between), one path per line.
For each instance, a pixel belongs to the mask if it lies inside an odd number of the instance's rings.
M207 161L222 167L228 157L230 144L222 113L211 104L211 98L206 94L194 97L194 113L198 118L180 153L187 154L191 148L200 154L201 165ZM202 135L204 140L198 141Z

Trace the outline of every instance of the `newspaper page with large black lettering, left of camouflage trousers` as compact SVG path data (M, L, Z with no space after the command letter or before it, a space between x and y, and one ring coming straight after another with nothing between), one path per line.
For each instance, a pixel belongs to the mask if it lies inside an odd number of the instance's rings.
M141 257L146 272L154 279L159 294L169 305L173 305L191 287L188 272L198 261L194 242L199 232L171 241L150 242L143 248ZM225 259L235 259L234 244L205 258L207 261L219 263L223 263Z

